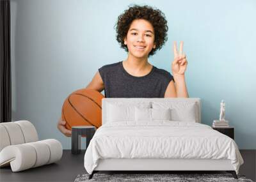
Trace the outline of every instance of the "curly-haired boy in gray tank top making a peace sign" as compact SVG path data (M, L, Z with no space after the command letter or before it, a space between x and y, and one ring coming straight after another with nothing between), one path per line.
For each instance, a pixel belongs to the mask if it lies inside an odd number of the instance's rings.
M128 56L124 61L99 68L86 88L104 90L106 98L188 98L184 77L188 61L182 54L183 42L179 52L176 42L173 45L173 75L148 63L148 57L166 42L167 31L167 21L160 10L137 5L125 10L116 23L116 40ZM58 129L71 136L61 118Z

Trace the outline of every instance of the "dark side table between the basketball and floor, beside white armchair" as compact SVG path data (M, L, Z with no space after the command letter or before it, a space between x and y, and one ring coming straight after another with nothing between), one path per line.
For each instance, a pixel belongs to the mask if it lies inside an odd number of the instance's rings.
M72 154L81 153L81 135L86 136L86 149L87 149L95 131L96 131L95 126L72 126L71 153Z

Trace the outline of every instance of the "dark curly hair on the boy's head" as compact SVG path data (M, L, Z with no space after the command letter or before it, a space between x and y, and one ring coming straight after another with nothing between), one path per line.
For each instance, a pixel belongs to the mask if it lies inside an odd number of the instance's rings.
M155 52L161 49L164 43L167 41L167 21L164 13L161 10L154 9L150 6L130 6L128 10L118 16L116 22L116 40L120 43L121 48L128 52L127 45L124 44L124 38L127 36L127 32L131 26L133 20L144 19L150 22L154 27L156 49L152 49L148 56L152 56Z

